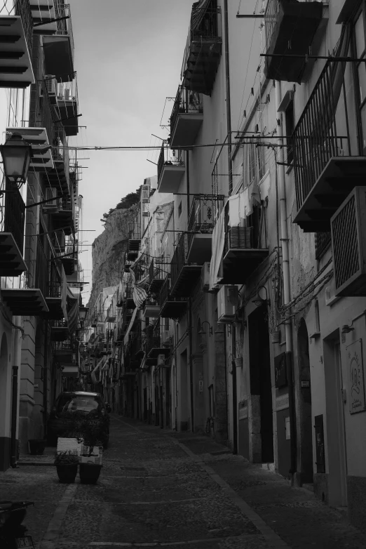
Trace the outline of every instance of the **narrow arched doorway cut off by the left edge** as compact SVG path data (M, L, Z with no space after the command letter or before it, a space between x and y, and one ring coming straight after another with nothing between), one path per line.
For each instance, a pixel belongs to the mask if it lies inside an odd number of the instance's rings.
M5 470L9 466L11 441L11 369L5 333L0 346L0 418L0 470Z

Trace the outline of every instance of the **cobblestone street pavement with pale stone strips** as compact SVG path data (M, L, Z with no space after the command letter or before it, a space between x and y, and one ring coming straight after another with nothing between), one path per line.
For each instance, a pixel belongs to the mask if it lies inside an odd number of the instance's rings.
M311 491L207 437L113 416L96 485L60 484L50 461L22 456L0 473L0 498L36 501L25 520L36 549L366 548Z

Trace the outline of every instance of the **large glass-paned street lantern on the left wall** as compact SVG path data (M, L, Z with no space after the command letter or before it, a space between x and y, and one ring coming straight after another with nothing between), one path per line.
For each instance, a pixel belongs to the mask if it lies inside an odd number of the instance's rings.
M5 178L16 185L25 183L32 158L32 146L22 138L20 133L13 133L4 145L0 145L0 152L3 157Z

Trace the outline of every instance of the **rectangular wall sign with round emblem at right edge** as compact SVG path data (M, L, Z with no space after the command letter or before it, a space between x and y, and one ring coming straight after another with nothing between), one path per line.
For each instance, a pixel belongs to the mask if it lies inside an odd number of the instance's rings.
M347 350L347 370L349 380L349 412L357 414L366 409L365 382L363 376L362 339L351 343Z

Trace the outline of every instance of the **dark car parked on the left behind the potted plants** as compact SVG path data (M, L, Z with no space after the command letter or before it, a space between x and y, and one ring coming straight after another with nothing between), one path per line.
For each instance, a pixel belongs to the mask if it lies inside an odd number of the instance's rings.
M48 419L48 442L55 446L57 437L65 436L71 423L70 413L73 412L85 414L86 419L90 418L90 422L94 424L100 423L101 442L106 449L109 442L109 422L105 419L111 412L111 406L104 402L99 392L64 391L60 393Z

